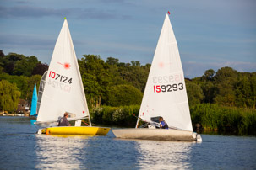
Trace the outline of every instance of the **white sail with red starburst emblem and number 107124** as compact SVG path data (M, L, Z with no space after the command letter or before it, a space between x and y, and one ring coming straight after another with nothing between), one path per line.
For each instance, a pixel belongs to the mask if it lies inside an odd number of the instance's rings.
M57 121L65 112L72 119L89 117L74 45L65 19L46 75L37 122Z

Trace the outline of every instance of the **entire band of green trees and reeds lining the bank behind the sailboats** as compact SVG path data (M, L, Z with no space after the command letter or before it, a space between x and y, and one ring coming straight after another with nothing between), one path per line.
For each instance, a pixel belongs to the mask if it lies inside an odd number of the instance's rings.
M78 61L92 122L134 127L150 64L113 57L103 61L95 55ZM0 112L15 114L20 99L30 104L34 84L39 88L46 70L48 65L36 56L4 55L0 50ZM256 72L226 66L185 82L194 131L256 135Z

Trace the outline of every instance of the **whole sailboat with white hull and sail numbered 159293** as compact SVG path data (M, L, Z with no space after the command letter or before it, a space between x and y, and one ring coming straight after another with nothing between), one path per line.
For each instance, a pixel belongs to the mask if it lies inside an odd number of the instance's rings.
M163 117L169 129L157 129ZM137 128L139 121L148 128ZM152 129L153 127L153 129ZM164 141L201 141L193 132L188 96L177 41L168 14L155 49L139 118L134 129L113 129L117 138Z

